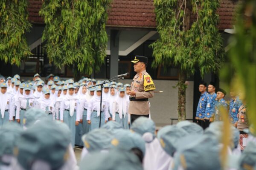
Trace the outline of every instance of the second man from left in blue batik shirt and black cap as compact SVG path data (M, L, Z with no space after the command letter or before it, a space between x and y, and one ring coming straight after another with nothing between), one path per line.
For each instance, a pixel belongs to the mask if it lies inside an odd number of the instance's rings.
M206 105L205 117L204 117L205 128L209 127L210 118L212 117L212 114L215 113L215 103L216 103L215 89L216 89L215 83L210 82L208 85L209 96L207 97L207 105Z

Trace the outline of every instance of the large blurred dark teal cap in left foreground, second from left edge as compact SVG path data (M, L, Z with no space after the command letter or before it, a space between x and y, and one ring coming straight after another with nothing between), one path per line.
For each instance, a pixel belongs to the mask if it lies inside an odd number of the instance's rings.
M26 170L38 160L57 170L67 161L69 144L70 136L56 122L41 120L17 139L17 161Z

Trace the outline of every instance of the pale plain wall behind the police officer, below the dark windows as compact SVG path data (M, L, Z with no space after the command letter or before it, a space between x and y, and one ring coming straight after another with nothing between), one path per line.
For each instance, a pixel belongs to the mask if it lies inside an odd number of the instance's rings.
M131 84L131 79L120 80L122 83ZM172 80L153 80L156 85L156 91L163 91L163 93L154 93L154 97L149 99L151 104L151 119L158 126L171 124L170 118L177 118L177 105L178 105L178 90L172 88L177 84L177 81ZM193 88L194 83L189 81L188 88L186 89L186 118L193 118ZM173 123L176 123L174 121Z

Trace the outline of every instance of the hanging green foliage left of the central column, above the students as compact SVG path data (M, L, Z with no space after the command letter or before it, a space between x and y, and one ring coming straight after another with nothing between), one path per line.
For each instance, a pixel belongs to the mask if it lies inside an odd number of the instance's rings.
M99 70L106 56L107 8L111 0L44 0L39 12L44 17L49 61L58 68L73 66L75 72Z

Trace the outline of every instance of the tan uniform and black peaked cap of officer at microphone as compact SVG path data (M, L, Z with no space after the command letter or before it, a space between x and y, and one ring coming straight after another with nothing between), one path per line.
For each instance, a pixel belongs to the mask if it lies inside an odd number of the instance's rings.
M136 62L147 62L141 59L142 56L136 56L132 61ZM140 74L136 74L131 83L131 91L135 91L135 96L130 96L130 104L128 113L133 115L149 115L150 105L148 98L154 96L155 85L150 75L144 70Z

